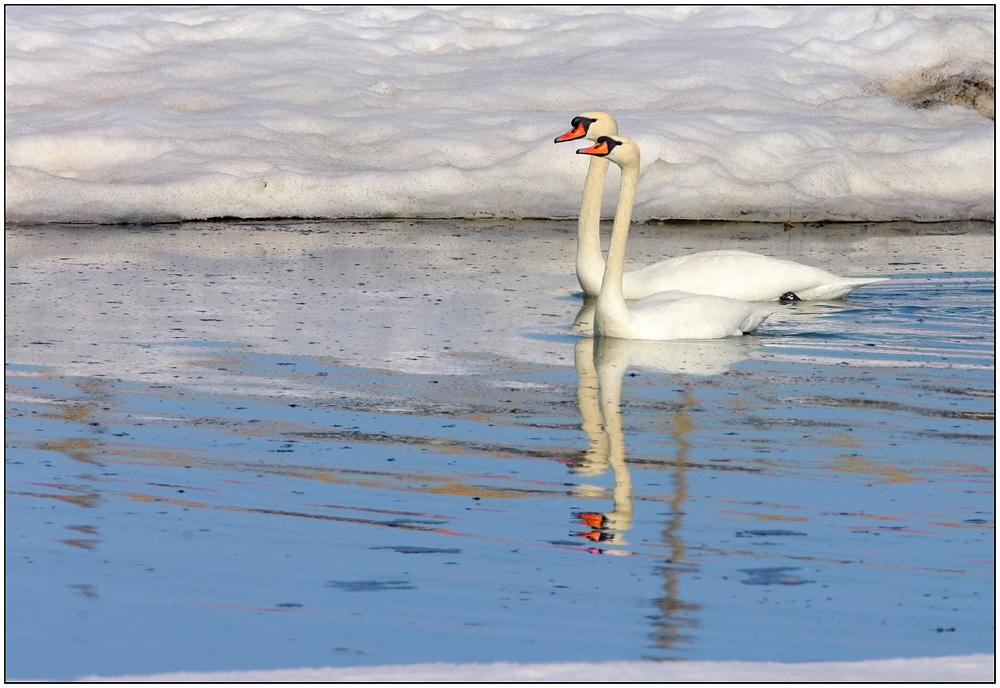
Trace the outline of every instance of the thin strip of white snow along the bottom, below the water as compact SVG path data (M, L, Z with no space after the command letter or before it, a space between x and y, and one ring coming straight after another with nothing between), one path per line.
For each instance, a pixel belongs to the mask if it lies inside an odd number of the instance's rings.
M177 672L150 676L87 676L99 682L992 682L994 655L878 659L863 662L601 662L566 664L408 664L345 669Z

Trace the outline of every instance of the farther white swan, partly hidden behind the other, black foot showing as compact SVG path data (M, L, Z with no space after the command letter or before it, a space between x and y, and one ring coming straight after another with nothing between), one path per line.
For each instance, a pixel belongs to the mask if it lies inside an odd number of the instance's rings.
M606 112L584 112L574 117L571 125L570 131L556 137L556 143L584 137L597 141L601 136L618 134L618 123ZM586 296L600 293L604 274L600 223L607 173L606 160L591 158L580 203L576 249L576 276ZM671 289L744 301L816 301L843 298L858 287L888 278L840 277L791 260L749 251L718 250L664 260L626 272L623 279L628 301Z

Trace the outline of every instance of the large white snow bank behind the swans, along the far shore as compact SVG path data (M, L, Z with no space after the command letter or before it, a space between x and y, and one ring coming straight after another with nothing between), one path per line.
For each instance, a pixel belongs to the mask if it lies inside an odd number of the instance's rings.
M600 109L642 147L640 221L992 219L993 23L993 6L7 7L6 217L573 217L588 160L552 139Z

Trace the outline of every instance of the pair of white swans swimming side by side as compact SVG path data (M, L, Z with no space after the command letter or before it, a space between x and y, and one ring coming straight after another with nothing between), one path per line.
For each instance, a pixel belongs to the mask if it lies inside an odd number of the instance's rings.
M785 306L750 301L840 298L884 278L845 278L747 251L704 251L625 273L625 245L639 180L639 148L618 135L615 119L587 112L556 143L588 138L577 153L594 156L584 184L576 272L586 296L597 296L594 333L622 339L717 339L753 331ZM608 164L621 168L611 247L600 246L601 196ZM628 304L627 301L638 299Z

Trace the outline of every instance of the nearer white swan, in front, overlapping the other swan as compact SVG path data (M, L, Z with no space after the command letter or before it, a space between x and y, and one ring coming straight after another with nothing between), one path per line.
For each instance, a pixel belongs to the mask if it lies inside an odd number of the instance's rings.
M720 339L751 332L787 306L763 306L722 296L679 290L625 302L622 275L632 204L639 182L639 147L625 136L601 136L577 153L606 157L622 170L618 209L601 291L594 309L594 334L620 339Z

